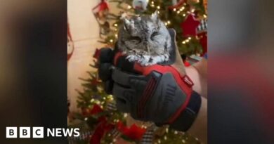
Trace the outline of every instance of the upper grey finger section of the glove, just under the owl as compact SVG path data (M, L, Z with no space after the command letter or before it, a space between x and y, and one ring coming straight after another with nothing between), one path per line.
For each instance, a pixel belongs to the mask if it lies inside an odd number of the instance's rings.
M143 75L128 74L121 70L114 69L112 71L112 79L123 86L131 86L134 79L145 79Z

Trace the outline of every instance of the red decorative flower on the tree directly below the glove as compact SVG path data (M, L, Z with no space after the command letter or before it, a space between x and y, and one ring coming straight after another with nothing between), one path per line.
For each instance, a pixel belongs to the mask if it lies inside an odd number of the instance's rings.
M140 140L145 133L145 129L132 124L130 127L124 126L122 122L117 123L117 129L132 140Z

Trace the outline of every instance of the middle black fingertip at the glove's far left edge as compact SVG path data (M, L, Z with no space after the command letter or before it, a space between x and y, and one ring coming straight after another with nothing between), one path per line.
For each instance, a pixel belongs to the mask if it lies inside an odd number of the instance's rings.
M111 79L111 66L111 63L102 63L101 65L99 65L98 74L99 78L102 79L102 81L107 81L108 79Z

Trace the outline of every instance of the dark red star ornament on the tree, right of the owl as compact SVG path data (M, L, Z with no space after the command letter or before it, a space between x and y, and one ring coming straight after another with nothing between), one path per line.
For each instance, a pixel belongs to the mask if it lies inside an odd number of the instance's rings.
M185 21L181 23L183 37L195 36L198 25L200 25L200 21L196 20L193 14L187 15Z

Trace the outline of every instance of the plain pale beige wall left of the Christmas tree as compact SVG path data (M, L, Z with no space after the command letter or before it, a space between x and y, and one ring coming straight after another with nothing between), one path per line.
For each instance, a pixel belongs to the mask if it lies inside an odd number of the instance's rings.
M67 62L67 97L71 102L70 110L77 110L77 93L81 90L79 77L86 78L86 71L92 70L92 55L96 48L103 46L98 43L99 27L91 9L100 0L67 0L67 19L70 25L74 52Z

